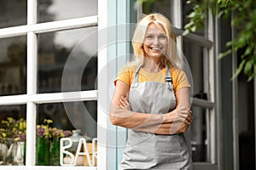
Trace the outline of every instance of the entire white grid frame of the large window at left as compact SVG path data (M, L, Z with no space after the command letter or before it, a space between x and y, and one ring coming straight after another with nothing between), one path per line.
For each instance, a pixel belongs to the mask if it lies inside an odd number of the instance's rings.
M27 25L14 26L0 29L0 38L4 37L27 37L27 86L26 94L2 96L0 105L26 105L26 166L1 166L1 169L70 169L70 167L61 166L35 166L36 162L36 116L37 105L44 103L57 103L69 101L97 100L98 103L106 102L108 94L107 80L104 74L98 74L98 90L88 90L80 92L37 94L37 74L38 74L38 40L37 34L50 31L63 31L74 28L84 28L98 26L98 30L106 28L108 1L98 0L98 15L81 17L71 20L59 20L37 24L37 1L27 0ZM107 36L99 37L98 47L107 42ZM107 44L107 43L105 43ZM107 48L102 47L98 51L98 73L102 71L104 65L108 64ZM63 97L65 95L65 98ZM107 167L107 120L108 116L101 107L97 107L97 123L101 128L97 128L97 167L72 167L72 169L106 169ZM103 128L102 128L103 127Z

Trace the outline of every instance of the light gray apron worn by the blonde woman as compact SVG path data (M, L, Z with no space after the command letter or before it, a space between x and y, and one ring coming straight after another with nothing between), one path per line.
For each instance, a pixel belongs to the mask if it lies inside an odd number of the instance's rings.
M131 111L163 114L176 107L172 78L166 67L166 83L138 83L137 66L131 82ZM126 169L192 169L189 147L183 133L158 135L128 129L128 139L119 170Z

